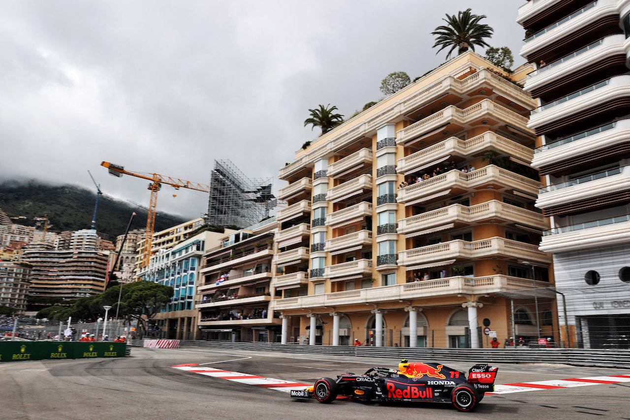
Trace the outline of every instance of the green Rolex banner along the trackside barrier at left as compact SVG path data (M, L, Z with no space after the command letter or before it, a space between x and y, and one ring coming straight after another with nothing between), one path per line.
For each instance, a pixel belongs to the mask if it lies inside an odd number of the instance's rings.
M0 362L44 359L120 358L123 342L0 341Z

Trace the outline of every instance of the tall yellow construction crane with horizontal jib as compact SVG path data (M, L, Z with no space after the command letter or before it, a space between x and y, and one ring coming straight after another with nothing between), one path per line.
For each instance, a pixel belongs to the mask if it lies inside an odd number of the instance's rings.
M210 192L210 186L205 184L197 184L196 182L190 182L181 180L179 178L165 177L157 173L147 172L133 172L125 170L124 166L116 165L110 162L101 162L101 166L105 166L110 172L110 175L115 177L122 177L123 175L131 175L132 177L143 178L151 181L148 190L151 190L151 201L149 202L149 216L147 217L147 232L146 240L144 243L144 258L142 260L142 267L149 266L149 259L151 259L151 247L153 244L153 231L156 222L156 207L157 207L157 192L162 188L162 184L168 184L175 189L188 188L191 190Z

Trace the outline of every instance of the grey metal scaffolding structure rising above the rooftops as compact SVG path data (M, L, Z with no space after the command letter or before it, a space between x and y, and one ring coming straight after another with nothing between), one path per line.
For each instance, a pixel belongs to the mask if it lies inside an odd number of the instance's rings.
M268 218L277 204L272 185L273 178L249 179L232 161L215 160L207 225L243 229Z

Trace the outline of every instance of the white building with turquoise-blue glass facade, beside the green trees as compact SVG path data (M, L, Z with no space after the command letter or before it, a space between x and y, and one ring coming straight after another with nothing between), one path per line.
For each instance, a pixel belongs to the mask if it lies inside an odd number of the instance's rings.
M203 231L171 248L151 256L149 267L139 273L144 280L171 286L171 302L153 318L161 336L171 339L197 340L198 311L195 310L195 286L198 284L202 255L219 245L222 233Z

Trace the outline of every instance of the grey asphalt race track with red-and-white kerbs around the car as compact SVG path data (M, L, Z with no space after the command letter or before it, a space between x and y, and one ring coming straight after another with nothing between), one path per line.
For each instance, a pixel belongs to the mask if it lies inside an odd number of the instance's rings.
M467 372L483 360L438 362ZM0 364L0 419L440 419L630 420L630 370L544 363L498 367L493 395L471 413L450 404L331 404L289 398L318 378L395 368L396 358L221 349L144 349L118 359Z

